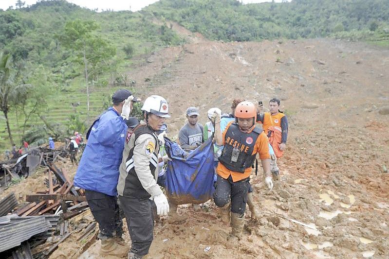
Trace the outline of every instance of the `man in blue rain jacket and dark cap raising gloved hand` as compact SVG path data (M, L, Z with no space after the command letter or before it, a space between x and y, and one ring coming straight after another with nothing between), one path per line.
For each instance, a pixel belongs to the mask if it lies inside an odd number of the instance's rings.
M122 239L123 222L116 186L127 131L124 119L129 119L133 100L138 101L126 89L113 94L112 107L88 130L88 141L74 176L74 186L85 189L89 207L99 224L102 258L124 257L128 253L128 246Z

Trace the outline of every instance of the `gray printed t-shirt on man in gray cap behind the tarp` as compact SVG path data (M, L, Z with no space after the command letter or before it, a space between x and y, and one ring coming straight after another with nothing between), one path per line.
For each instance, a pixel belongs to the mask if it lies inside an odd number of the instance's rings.
M178 133L178 140L183 149L195 149L201 143L203 143L203 125L196 123L195 127L189 126L186 123L184 127L180 129Z

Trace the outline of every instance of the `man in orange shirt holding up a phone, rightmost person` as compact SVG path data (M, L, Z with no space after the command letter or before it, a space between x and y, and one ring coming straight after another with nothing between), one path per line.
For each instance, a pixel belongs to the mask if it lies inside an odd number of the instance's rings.
M273 98L269 101L269 112L260 113L258 122L263 124L263 130L266 135L269 137L269 127L270 126L278 126L281 128L281 143L279 143L278 147L273 147L273 149L279 149L280 151L284 151L286 149L286 140L288 138L288 118L286 115L279 111L280 101L277 98ZM259 109L263 110L262 107ZM271 172L273 177L278 179L279 177L279 169L277 165L277 157L276 155L272 155L272 161L270 164Z

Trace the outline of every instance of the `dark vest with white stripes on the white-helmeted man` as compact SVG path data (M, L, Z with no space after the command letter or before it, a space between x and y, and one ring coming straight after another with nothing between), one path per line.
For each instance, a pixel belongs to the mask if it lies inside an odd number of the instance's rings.
M154 131L152 131L147 125L140 124L136 128L134 128L134 131L132 133L134 136L134 141L132 143L135 143L136 140L141 136L142 134L150 134L155 139L155 150L151 154L151 159L149 163L150 172L152 174L152 177L154 178L154 172L155 169L158 167L158 139L155 137ZM132 136L131 136L132 137ZM139 181L138 176L135 173L134 169L134 160L132 158L133 152L134 152L134 145L130 147L130 153L126 159L126 171L128 173L126 177L126 183L125 188L123 190L123 196L132 196L137 198L149 198L150 194L143 188L141 182Z

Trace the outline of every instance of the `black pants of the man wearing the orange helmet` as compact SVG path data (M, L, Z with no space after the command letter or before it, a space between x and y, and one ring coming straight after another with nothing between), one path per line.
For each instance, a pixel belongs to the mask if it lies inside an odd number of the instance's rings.
M231 211L243 215L246 210L247 192L249 189L250 177L233 182L231 175L224 179L218 175L216 190L213 193L213 200L219 207L223 207L231 201Z

